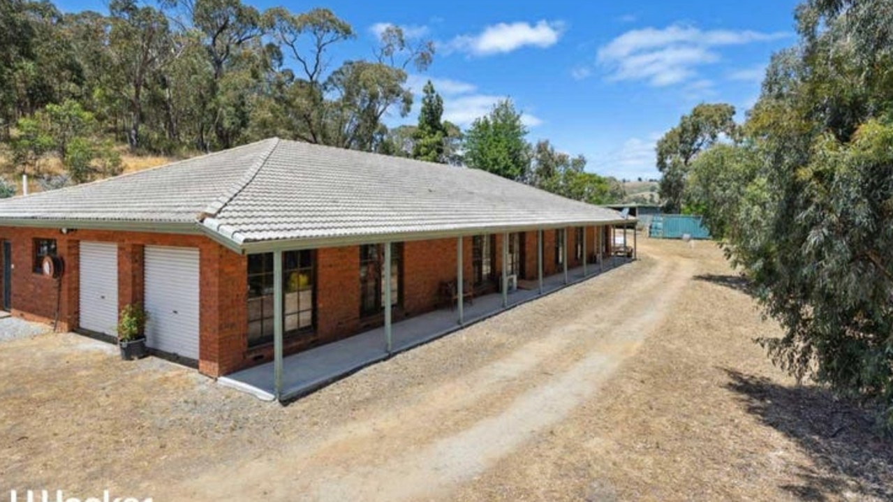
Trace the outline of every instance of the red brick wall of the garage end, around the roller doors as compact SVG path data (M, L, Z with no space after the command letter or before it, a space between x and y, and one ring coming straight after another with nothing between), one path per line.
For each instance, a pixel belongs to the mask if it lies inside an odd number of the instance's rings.
M54 238L56 251L64 263L61 280L58 330L79 326L79 242L82 240L118 244L119 306L143 300L143 249L145 246L198 247L201 269L199 370L217 376L238 367L245 347L246 260L212 240L200 236L154 232L76 230L63 234L58 229L0 227L0 238L12 243L13 315L38 322L53 322L57 282L32 272L35 238ZM2 279L0 279L2 280ZM239 340L238 343L236 340ZM221 350L221 344L227 345ZM238 357L232 347L239 345ZM221 360L218 360L222 358ZM241 364L241 362L239 362Z

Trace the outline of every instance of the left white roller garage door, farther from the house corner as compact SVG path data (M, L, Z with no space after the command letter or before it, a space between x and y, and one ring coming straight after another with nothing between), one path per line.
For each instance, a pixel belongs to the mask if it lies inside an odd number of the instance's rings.
M80 327L114 335L118 324L118 245L80 243Z

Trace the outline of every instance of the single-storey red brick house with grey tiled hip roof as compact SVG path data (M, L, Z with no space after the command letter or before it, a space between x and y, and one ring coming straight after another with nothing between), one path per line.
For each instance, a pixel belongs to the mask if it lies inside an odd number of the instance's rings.
M0 201L0 280L4 309L58 330L112 336L146 305L149 347L217 377L436 309L459 271L479 292L536 280L540 236L543 274L580 265L620 222L488 172L272 138Z

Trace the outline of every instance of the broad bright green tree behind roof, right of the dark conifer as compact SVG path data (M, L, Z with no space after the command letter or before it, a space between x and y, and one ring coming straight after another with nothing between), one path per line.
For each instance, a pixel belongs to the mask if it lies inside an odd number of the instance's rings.
M464 161L472 169L492 172L509 180L524 180L530 171L527 128L511 100L497 103L465 133Z

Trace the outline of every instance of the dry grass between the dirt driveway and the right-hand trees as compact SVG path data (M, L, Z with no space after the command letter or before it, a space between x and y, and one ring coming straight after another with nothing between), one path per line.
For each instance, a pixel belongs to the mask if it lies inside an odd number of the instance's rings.
M672 315L597 399L461 498L893 499L893 442L853 403L772 367L752 339L779 328L721 253L644 244L696 260Z

